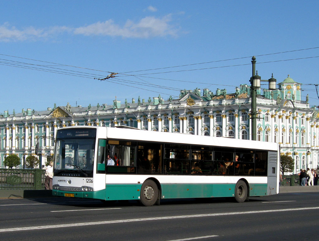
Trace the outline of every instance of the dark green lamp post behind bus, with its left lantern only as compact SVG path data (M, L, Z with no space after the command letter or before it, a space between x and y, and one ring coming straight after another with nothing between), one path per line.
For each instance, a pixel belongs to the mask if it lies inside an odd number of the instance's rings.
M260 76L255 74L255 64L256 58L253 56L252 58L252 77L250 78L250 96L251 96L251 139L257 140L257 88L260 88Z

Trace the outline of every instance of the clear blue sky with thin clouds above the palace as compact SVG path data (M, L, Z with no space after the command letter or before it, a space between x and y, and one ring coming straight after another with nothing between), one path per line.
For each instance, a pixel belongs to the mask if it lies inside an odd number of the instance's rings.
M180 89L233 93L249 84L253 55L263 55L256 70L264 80L273 73L279 83L289 74L319 84L319 58L309 58L319 56L318 1L1 0L1 6L0 112L111 104L115 96L122 103L167 99ZM265 55L307 48L313 49ZM241 59L228 60L235 58ZM278 61L297 58L308 59ZM212 62L218 60L228 61ZM211 63L197 64L204 62ZM174 67L182 65L188 66ZM140 71L164 67L174 68ZM97 79L108 72L120 74ZM318 105L315 86L303 89L303 100L308 93Z

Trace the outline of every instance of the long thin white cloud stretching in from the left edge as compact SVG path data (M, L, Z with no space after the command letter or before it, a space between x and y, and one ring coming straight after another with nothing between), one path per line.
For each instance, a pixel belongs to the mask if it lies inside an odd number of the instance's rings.
M65 32L70 34L81 34L85 36L100 35L115 37L119 36L123 38L153 38L165 36L176 37L180 27L173 25L171 22L172 14L168 14L162 18L149 16L142 18L136 23L131 20L127 20L123 26L115 24L112 19L78 28L53 26L37 29L33 26L30 26L19 30L15 26L9 25L9 23L4 23L3 25L0 25L0 42L39 40L43 38L48 39L56 37L58 34Z

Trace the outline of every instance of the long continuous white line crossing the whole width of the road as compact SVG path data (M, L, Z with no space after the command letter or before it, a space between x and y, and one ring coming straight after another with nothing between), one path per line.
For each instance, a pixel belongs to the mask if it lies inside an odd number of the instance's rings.
M110 223L131 223L131 222L167 220L167 219L180 219L180 218L194 218L194 217L211 217L211 216L228 216L228 215L254 214L254 213L300 211L300 210L311 210L311 209L319 209L319 207L294 208L294 209L257 210L257 211L233 212L233 213L209 213L209 214L166 216L166 217L133 218L133 219L120 219L120 220L100 221L100 222L87 222L87 223L66 223L66 224L56 224L56 225L7 228L7 229L0 229L0 232L41 230L41 229L53 229L53 228L70 228L70 227L80 227L80 226L100 225L100 224L110 224Z

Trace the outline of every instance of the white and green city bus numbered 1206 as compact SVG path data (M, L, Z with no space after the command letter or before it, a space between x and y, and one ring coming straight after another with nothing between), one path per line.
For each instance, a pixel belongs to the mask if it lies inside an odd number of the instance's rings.
M55 196L152 206L279 192L277 143L102 126L60 128L55 142Z

